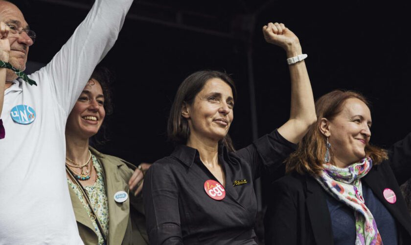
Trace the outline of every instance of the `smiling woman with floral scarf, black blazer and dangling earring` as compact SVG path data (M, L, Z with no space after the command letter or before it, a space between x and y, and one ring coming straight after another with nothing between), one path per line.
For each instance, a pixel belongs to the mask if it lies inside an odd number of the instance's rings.
M389 151L370 145L368 106L352 91L316 101L317 123L274 182L266 244L411 244L398 187L411 175L411 134Z

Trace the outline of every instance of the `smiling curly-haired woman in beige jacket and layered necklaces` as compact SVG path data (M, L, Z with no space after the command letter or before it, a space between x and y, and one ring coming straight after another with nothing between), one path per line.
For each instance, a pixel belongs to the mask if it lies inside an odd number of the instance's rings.
M66 170L71 202L86 245L147 244L140 191L141 170L148 166L136 169L89 146L106 114L112 113L110 77L107 69L97 68L68 116ZM138 184L129 193L127 184L133 175Z

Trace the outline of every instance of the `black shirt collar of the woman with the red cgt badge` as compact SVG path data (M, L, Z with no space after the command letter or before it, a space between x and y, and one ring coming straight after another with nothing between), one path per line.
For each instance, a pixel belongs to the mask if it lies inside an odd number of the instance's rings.
M191 167L196 159L200 160L200 153L198 150L186 145L177 145L171 155L179 159L187 167ZM224 144L222 143L218 143L218 157L228 159L227 148L224 147Z

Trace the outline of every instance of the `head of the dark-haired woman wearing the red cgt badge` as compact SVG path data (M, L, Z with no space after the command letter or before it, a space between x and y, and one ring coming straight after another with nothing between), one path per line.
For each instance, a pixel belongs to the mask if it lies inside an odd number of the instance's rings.
M196 97L199 99L196 100ZM195 137L197 133L200 133L196 130L210 131L213 129L211 123L218 123L220 127L214 128L220 132L217 137L222 138L225 147L233 151L234 147L229 138L228 129L234 117L233 107L236 97L237 90L234 82L226 73L201 71L189 75L180 85L170 110L167 124L169 140L178 144L186 144L190 136L190 128L194 131L193 136ZM227 106L221 107L221 103L226 103ZM198 109L195 109L194 105L197 105ZM208 115L204 115L206 117L204 121L194 120L194 122L203 123L203 125L193 125L193 120L187 119L200 117L202 112L199 110L207 110ZM223 110L222 115L220 115L220 110ZM192 115L190 116L190 114ZM209 132L208 135L213 137L212 132ZM216 140L215 136L214 140Z

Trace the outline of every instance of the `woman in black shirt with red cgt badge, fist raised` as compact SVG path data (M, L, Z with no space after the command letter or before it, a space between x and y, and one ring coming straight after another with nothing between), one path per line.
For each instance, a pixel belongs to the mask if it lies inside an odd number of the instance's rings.
M234 151L228 129L236 97L231 78L200 71L180 85L168 122L179 144L147 172L143 187L150 244L256 244L253 181L273 172L316 121L314 99L297 36L283 24L263 27L267 42L287 52L290 119Z

